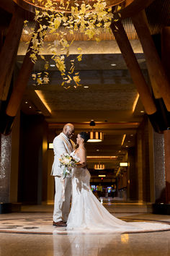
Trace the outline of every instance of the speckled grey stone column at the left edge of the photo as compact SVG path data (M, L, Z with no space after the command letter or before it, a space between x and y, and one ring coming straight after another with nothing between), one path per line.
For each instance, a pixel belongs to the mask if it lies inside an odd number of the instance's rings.
M9 204L11 146L11 135L0 135L0 213L11 211Z

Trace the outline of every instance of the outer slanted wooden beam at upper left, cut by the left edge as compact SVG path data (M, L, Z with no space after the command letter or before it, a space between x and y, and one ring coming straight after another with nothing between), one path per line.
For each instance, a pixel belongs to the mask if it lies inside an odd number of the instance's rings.
M17 57L17 49L19 40L22 35L24 18L22 17L22 9L16 7L9 25L8 33L4 41L4 45L0 54L0 99L6 101L9 85L11 82L12 72L14 70L14 62Z

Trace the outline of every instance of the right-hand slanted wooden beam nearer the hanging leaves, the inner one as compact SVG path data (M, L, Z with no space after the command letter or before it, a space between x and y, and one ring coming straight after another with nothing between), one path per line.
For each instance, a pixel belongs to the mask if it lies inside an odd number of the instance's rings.
M116 25L116 27L115 27ZM133 53L133 48L130 45L128 40L128 36L125 33L125 30L122 26L121 21L112 22L111 25L112 33L115 35L115 39L117 40L117 44L120 47L120 51L122 52L122 56L125 59L125 62L130 71L133 82L138 90L140 95L140 100L143 103L143 106L146 110L146 113L151 115L156 113L156 106L153 102L153 98L151 97L150 90L148 89L148 85L146 84L146 80L143 77L143 74L140 70L137 59L135 58L135 54Z

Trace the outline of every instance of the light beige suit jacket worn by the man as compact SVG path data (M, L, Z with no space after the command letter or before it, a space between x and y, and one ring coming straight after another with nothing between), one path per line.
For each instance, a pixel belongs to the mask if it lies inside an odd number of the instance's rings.
M63 153L70 154L71 152L73 152L75 148L74 142L72 140L70 141L71 143L63 135L63 132L61 132L61 134L55 137L55 139L53 140L54 161L53 161L51 175L61 176L63 168L60 166L61 163L59 161L59 158L61 158L61 155Z

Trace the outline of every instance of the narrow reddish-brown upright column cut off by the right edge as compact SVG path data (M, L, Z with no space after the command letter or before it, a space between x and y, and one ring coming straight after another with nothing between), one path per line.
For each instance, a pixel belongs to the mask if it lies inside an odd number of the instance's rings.
M164 131L166 203L170 203L170 130Z

